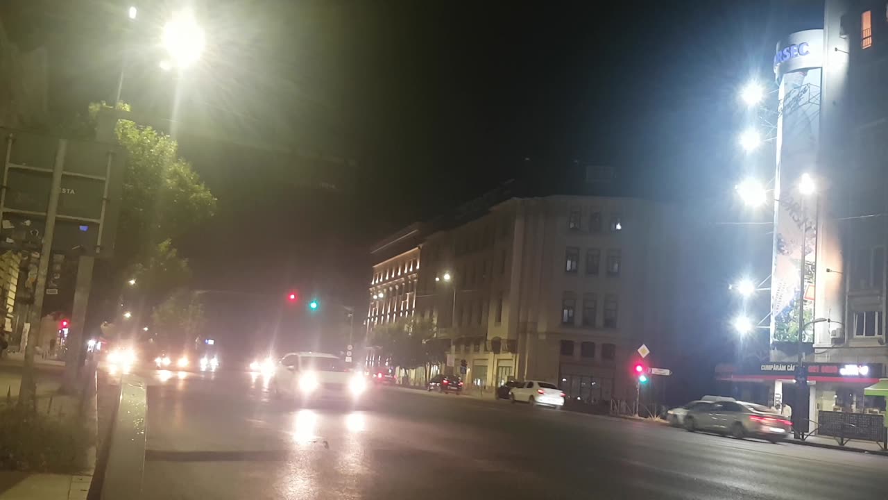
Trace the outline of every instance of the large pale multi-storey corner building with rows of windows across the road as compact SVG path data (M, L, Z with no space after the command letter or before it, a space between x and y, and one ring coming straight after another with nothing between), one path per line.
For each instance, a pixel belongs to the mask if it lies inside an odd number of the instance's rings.
M447 361L411 384L441 372L634 400L639 346L662 353L675 331L677 229L671 206L638 198L485 196L373 247L368 330L434 322Z

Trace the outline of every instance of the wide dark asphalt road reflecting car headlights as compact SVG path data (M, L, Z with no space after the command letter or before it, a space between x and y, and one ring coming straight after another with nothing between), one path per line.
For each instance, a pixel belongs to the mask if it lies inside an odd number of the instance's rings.
M149 372L149 499L884 498L888 458L395 388L297 407Z

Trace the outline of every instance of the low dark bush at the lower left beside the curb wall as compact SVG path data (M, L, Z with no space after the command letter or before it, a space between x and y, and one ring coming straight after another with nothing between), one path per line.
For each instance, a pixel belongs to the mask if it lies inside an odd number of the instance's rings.
M0 410L0 470L78 472L90 439L75 417L59 420L14 407Z

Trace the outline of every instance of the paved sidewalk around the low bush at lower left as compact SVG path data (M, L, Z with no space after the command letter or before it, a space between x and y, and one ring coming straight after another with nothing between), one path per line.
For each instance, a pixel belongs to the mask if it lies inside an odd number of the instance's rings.
M0 365L16 363L17 359L3 359ZM55 364L59 361L41 360L40 364ZM64 363L61 364L64 366ZM19 395L21 375L0 372L0 410L7 406L6 393L14 405ZM76 418L79 397L59 394L61 379L58 376L38 375L37 413L56 418ZM94 438L98 426L97 400L95 391L86 401L84 424ZM29 473L0 470L0 500L85 500L89 492L92 474L96 463L95 440L86 451L83 471L75 474Z

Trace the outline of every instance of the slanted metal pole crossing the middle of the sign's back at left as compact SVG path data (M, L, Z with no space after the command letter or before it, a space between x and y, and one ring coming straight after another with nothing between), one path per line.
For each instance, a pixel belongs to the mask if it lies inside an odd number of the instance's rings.
M65 165L65 151L67 141L59 139L59 149L56 150L55 165L52 166L52 186L50 187L50 199L46 207L46 228L44 230L43 246L40 250L40 263L37 266L37 282L34 286L34 305L31 308L31 332L28 335L28 343L25 346L25 364L21 375L19 389L19 407L27 408L36 398L36 380L34 378L34 348L40 343L41 316L44 308L44 294L46 294L46 273L50 267L50 254L52 253L52 235L55 232L56 212L59 208L59 192L61 191L61 173Z

